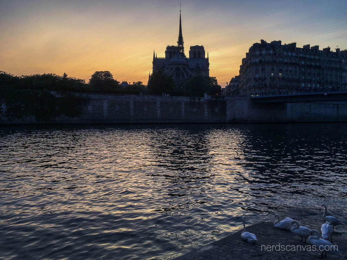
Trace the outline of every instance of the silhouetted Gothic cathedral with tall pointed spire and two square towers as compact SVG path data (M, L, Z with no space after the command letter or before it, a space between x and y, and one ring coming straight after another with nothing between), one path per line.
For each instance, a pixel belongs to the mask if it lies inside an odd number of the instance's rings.
M153 72L162 70L171 76L176 85L194 75L209 76L209 53L205 58L204 46L191 46L189 58L184 54L181 10L179 10L179 32L177 46L166 46L165 58L157 58L153 51Z

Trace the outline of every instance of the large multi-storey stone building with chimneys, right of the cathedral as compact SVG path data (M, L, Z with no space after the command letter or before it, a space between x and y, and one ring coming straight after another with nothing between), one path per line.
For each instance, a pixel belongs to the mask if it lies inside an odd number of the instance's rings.
M254 43L242 59L239 93L287 94L347 90L347 50L302 48L281 41Z

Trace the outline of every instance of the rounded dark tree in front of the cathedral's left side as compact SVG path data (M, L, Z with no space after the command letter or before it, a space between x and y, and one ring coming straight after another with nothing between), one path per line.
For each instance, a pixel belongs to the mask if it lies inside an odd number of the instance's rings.
M151 94L162 95L175 90L175 83L171 76L161 70L154 71L148 81L148 90Z

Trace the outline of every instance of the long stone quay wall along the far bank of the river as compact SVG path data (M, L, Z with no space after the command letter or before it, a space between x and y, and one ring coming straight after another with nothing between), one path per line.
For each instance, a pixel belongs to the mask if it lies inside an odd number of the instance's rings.
M347 122L347 101L254 103L247 97L174 97L51 92L69 113L38 118L2 101L0 124ZM17 104L18 106L18 104ZM22 116L9 113L19 111ZM15 107L15 109L14 109ZM41 107L38 110L45 109ZM20 112L22 111L22 112ZM41 111L44 114L45 111Z

